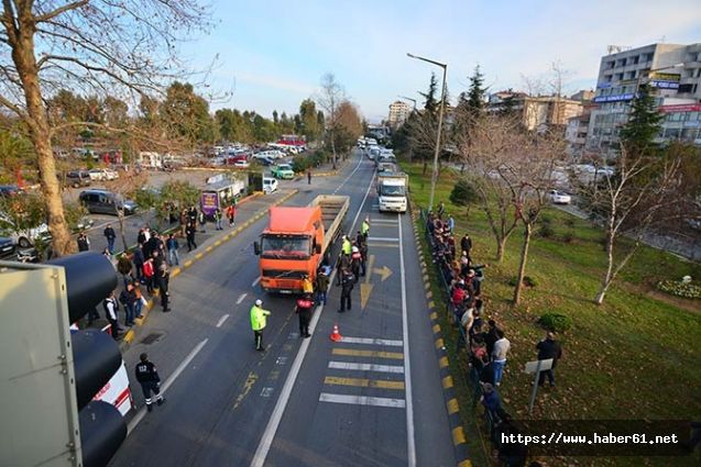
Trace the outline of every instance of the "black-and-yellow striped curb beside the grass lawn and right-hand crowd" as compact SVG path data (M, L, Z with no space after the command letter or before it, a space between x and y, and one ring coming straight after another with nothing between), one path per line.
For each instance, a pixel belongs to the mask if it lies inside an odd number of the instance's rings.
M456 451L456 459L458 460L458 467L471 467L472 462L470 460L470 453L468 452L468 440L464 435L464 429L462 427L462 419L460 418L460 405L458 404L458 398L456 397L452 375L450 374L448 352L446 351L440 324L438 324L438 312L436 309L436 302L434 301L434 293L430 290L430 279L428 276L428 268L426 266L426 260L424 258L424 252L421 248L416 211L412 210L410 213L412 226L414 230L414 240L416 242L416 252L418 254L419 265L421 267L424 290L426 292L426 303L431 321L431 330L434 332L434 343L436 347L436 357L438 358L441 386L443 388L443 399L446 401L446 410L448 412L448 423L450 425L450 433L452 435L452 445Z

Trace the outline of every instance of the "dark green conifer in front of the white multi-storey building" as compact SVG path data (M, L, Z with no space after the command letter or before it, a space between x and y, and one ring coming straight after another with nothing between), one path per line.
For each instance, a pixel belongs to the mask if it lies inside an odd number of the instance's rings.
M657 111L655 97L647 85L640 85L633 99L628 121L618 134L629 156L655 149L654 140L661 129L664 115Z

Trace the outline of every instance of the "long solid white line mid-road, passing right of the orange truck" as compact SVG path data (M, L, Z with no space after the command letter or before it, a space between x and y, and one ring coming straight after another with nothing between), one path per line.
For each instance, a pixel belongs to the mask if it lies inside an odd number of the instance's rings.
M360 159L362 162L362 157ZM358 163L358 167L360 167L360 162ZM355 170L358 170L355 167ZM355 223L358 222L358 218L360 216L360 212L363 210L363 205L368 200L368 194L370 194L370 189L372 188L372 182L374 180L374 170L373 176L370 177L370 184L368 184L368 190L365 191L365 196L363 197L362 202L360 203L360 209L355 213L355 219L353 219L353 223L351 224L352 232L355 227ZM333 278L336 277L336 269L329 276L329 283L333 283ZM314 331L317 327L317 323L319 322L319 318L321 316L321 312L324 311L324 305L319 307L319 312L314 313L311 318L311 323L309 324L309 332L314 334ZM289 373L287 374L287 378L285 379L285 385L283 386L282 391L280 392L280 397L277 398L277 402L275 403L275 408L273 409L273 413L271 413L271 418L267 421L267 425L265 426L265 431L263 432L263 436L261 436L261 442L253 454L253 459L251 460L251 467L263 467L265 464L265 458L267 457L267 453L271 449L273 444L273 440L275 438L275 433L277 432L277 427L280 426L280 421L283 419L283 413L285 413L285 409L287 408L287 403L289 402L289 396L292 394L292 389L295 386L295 381L297 380L297 376L299 375L299 369L302 368L302 363L304 362L305 356L307 355L307 351L309 349L310 338L305 338L299 345L299 351L297 352L297 356L289 368Z

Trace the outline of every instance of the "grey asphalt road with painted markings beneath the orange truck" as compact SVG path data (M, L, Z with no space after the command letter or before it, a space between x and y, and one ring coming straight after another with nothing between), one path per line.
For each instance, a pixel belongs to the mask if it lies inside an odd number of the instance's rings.
M373 173L357 158L337 177L289 184L300 191L287 204L349 194L346 227L372 224L373 267L352 311L337 313L333 287L311 338L298 336L294 299L258 287L252 243L266 218L173 280L173 312L154 310L124 354L131 377L149 353L167 403L129 416L111 466L456 465L409 216L376 212ZM259 297L273 313L264 353L249 320ZM333 324L343 342L330 342Z

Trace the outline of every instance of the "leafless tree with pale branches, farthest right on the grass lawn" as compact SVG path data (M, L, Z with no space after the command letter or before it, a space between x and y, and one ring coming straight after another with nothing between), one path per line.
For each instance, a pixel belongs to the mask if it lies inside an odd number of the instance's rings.
M599 181L582 189L592 216L605 231L606 270L595 302L604 301L611 283L631 260L642 238L656 225L678 215L676 204L681 159L672 155L634 156L625 148L616 158L615 173L602 173ZM628 237L628 242L623 242Z

